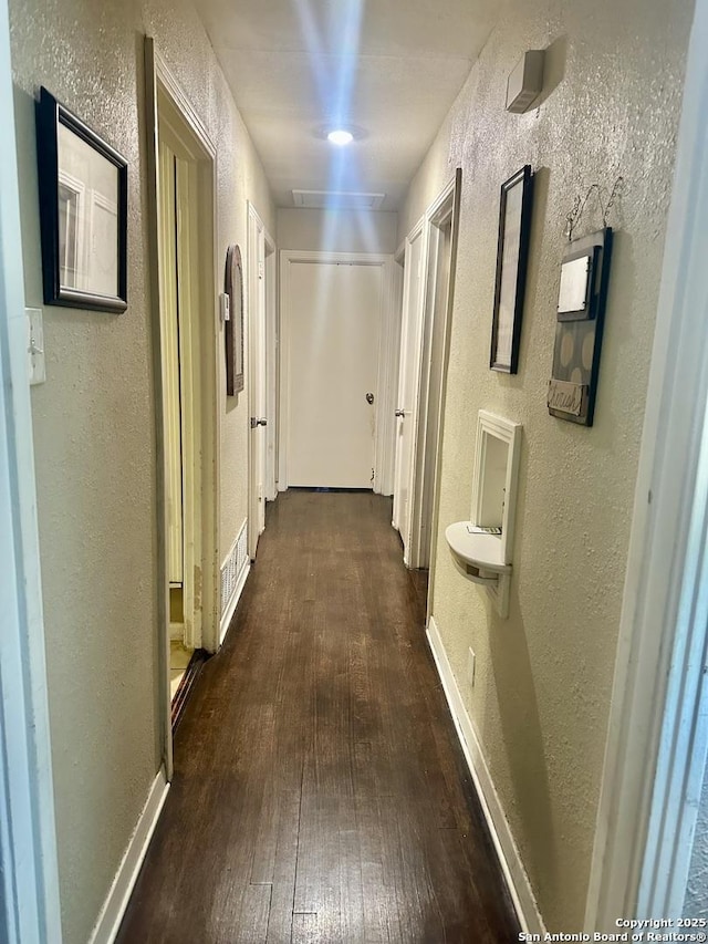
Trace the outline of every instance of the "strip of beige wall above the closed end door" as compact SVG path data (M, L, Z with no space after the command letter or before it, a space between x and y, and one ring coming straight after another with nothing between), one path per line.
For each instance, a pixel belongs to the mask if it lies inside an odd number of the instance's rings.
M352 210L278 210L278 248L306 252L396 251L398 216Z

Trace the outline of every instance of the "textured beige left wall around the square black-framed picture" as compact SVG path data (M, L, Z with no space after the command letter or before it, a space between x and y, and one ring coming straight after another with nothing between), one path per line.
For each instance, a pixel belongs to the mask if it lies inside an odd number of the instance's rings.
M218 252L274 209L185 0L11 0L27 303L42 301L33 97L40 84L129 162L128 309L44 309L32 392L64 941L88 938L159 764L155 424L143 37L218 148ZM247 514L246 396L222 424L221 553Z

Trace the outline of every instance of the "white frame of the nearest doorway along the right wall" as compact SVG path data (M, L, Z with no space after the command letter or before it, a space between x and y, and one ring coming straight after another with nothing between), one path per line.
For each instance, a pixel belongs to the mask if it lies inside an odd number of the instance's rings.
M433 553L431 543L436 533L436 489L438 483L438 466L440 463L440 443L442 439L442 422L445 414L445 388L447 385L447 369L449 362L449 335L452 320L452 304L455 301L455 273L457 262L457 241L459 230L459 206L462 187L462 170L460 167L455 176L447 183L442 190L425 211L426 239L424 243L425 258L424 280L421 284L423 305L420 312L420 353L418 372L418 396L415 429L415 456L413 461L413 488L410 498L413 501L410 549L408 552L408 567L431 568ZM440 262L439 230L446 222L450 222L450 266L448 272L448 284L445 301L438 307L437 298L437 273ZM438 232L436 232L436 230ZM436 391L430 391L430 372L433 359L425 361L425 334L429 321L430 340L436 332L441 332L441 364L440 382ZM431 352L430 352L431 354ZM431 444L433 461L426 467L428 450L428 423L430 397L433 397L433 409L437 416L437 435ZM429 520L426 520L428 519ZM433 599L428 590L428 599Z

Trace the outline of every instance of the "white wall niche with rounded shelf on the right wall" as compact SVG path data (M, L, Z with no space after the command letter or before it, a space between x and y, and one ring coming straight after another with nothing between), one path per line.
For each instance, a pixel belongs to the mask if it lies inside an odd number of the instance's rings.
M519 423L479 411L472 520L445 531L458 569L487 588L502 618L509 615L520 446Z

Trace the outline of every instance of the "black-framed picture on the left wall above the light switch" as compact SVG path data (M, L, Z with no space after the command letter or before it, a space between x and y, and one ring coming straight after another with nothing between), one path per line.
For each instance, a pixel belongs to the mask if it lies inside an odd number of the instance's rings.
M37 148L44 303L127 308L127 162L42 87Z

